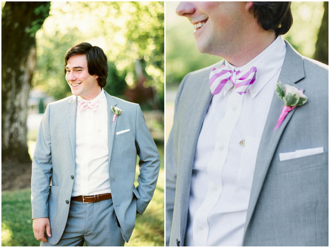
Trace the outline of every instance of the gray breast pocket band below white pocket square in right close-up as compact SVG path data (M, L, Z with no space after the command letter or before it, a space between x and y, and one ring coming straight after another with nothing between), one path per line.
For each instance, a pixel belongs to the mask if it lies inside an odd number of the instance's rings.
M276 173L304 170L308 168L323 166L328 164L328 151L306 156L298 159L290 159L276 163Z

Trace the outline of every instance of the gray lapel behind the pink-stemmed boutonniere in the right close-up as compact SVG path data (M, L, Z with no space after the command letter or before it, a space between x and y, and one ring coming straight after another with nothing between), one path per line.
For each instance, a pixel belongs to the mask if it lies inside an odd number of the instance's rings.
M282 82L282 86L284 84L296 86L295 83L305 77L303 58L298 52L296 52L291 47L289 43L287 42L285 43L286 43L286 55L284 58L282 70L278 81ZM272 104L269 110L265 129L263 130L259 145L253 183L252 183L252 190L250 195L250 202L247 211L247 219L245 223L245 231L251 221L252 214L255 209L262 188L262 184L267 175L278 142L281 138L281 135L287 123L289 122L290 118L293 116L295 111L295 108L291 110L285 117L280 128L274 131L275 125L277 123L282 108L283 108L283 102L278 98L274 90Z

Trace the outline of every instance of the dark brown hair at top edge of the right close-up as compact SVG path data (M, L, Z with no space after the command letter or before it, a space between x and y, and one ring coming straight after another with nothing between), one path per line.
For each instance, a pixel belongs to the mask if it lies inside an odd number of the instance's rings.
M263 29L272 29L279 36L286 34L293 23L290 7L291 2L253 2L250 11L254 11Z

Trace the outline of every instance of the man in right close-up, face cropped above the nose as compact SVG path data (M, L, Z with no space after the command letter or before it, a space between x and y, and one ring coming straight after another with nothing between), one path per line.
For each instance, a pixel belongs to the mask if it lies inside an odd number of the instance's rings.
M177 14L200 52L224 60L186 75L177 93L168 244L327 246L328 69L281 38L290 3L182 2ZM283 108L278 82L307 102Z

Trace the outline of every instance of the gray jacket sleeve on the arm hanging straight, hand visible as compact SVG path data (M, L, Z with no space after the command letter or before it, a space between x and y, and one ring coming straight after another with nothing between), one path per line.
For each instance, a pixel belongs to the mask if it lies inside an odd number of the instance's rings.
M50 106L41 121L36 149L32 160L31 204L32 219L49 218L48 196L52 177L51 135L49 129Z

